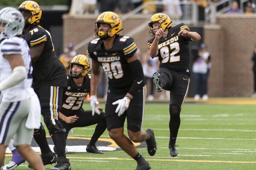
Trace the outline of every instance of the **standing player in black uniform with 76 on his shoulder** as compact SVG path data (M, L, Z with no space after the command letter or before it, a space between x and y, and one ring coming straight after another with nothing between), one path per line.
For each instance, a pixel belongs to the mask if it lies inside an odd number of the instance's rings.
M67 74L63 64L56 56L50 33L38 25L41 19L41 8L38 3L27 0L18 7L25 18L24 39L29 45L32 59L34 88L41 104L41 114L49 130L53 143L58 151L57 164L53 168L71 169L65 153L65 129L59 123L63 89L67 86ZM44 127L35 130L35 141L41 149L44 164L53 164L56 158L50 150Z

